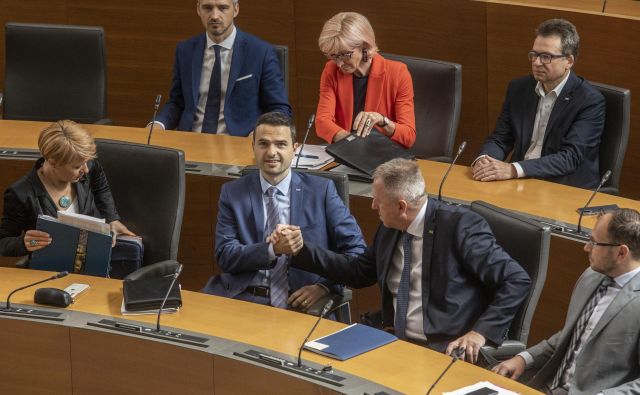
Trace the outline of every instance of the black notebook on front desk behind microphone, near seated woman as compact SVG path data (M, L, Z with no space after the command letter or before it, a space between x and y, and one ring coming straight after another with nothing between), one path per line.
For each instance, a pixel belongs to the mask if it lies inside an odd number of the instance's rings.
M173 276L125 280L122 285L124 307L128 311L158 310L171 285ZM182 306L180 286L173 284L171 293L164 305L165 309L177 309Z

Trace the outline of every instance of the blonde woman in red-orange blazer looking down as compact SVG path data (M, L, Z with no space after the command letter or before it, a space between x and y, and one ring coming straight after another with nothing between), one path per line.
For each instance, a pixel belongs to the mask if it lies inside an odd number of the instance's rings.
M366 137L375 127L411 147L416 140L411 75L404 63L378 53L367 18L355 12L333 16L318 46L330 59L320 79L318 136L332 143L351 132Z

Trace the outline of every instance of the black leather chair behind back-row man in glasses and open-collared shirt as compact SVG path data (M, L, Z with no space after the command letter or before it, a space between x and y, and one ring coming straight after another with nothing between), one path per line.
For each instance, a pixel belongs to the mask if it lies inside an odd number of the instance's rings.
M629 141L631 118L631 92L617 86L591 82L604 96L607 110L604 130L600 140L600 175L611 170L611 178L601 191L613 195L620 194L620 174Z

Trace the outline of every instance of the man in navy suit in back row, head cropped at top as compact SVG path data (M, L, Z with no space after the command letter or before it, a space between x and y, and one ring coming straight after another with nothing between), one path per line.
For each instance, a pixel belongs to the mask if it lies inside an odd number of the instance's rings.
M233 24L238 0L198 0L196 7L206 32L178 44L158 126L247 136L265 112L291 116L275 49Z

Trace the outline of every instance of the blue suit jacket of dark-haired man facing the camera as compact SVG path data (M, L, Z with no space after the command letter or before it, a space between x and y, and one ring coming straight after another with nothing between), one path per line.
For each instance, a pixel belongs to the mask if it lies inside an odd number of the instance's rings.
M275 262L268 256L264 234L264 209L259 173L248 174L222 186L216 226L216 259L223 271L212 277L203 292L236 297L242 293L258 270L271 269ZM331 180L293 173L291 178L290 222L300 226L302 237L324 248L341 253L364 252L360 228ZM322 277L299 269L289 270L292 291L323 283L340 292Z

